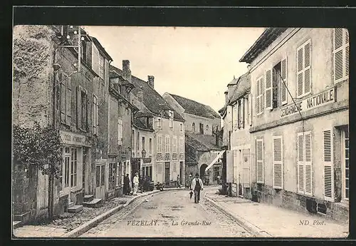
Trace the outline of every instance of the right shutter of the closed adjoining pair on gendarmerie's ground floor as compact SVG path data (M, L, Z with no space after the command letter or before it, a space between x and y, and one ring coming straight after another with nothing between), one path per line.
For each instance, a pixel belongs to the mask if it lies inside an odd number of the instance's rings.
M311 142L311 133L304 134L304 155L305 155L305 195L313 195L313 155L312 155L312 142Z

